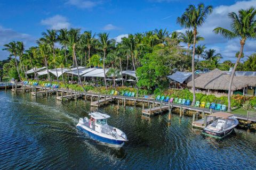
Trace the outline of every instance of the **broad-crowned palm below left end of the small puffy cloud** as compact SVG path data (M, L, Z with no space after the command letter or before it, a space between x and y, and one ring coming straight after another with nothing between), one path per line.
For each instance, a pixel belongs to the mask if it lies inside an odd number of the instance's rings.
M53 60L55 60L55 43L58 41L58 31L57 30L46 30L46 32L42 32L42 38L39 39L39 41L42 41L43 43L49 45L52 49L53 54ZM57 74L57 81L59 83L59 77L57 72L57 67L54 65L55 71Z

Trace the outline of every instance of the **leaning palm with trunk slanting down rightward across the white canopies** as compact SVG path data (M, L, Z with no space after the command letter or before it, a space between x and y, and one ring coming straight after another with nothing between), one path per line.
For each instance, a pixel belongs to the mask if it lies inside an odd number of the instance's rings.
M70 46L72 47L72 50L73 50L73 58L74 58L74 61L76 63L76 70L77 70L77 74L78 74L79 84L81 85L81 87L83 88L83 90L85 92L86 90L83 86L83 83L82 83L82 80L81 80L81 77L80 77L80 74L79 74L78 63L77 63L77 58L76 58L76 46L81 42L80 29L71 28L68 31L68 38L69 38L69 44L70 44Z

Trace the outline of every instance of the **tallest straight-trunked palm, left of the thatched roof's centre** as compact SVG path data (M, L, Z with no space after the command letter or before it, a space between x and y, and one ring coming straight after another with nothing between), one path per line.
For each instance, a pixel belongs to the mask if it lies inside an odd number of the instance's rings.
M177 18L177 23L185 28L192 28L194 41L193 41L193 55L192 55L192 91L193 91L193 101L192 105L195 104L196 94L195 94L195 50L196 50L196 35L197 28L202 26L205 22L208 15L212 13L212 6L205 6L203 3L195 5L189 5L186 8L186 11L181 15L181 17Z

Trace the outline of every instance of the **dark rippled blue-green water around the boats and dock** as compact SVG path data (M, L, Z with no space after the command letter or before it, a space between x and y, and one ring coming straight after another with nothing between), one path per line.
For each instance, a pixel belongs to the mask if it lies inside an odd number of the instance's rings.
M101 108L129 141L121 149L76 129L90 104L0 91L0 169L255 169L256 136L237 130L225 140L204 138L191 117L141 118L141 108Z

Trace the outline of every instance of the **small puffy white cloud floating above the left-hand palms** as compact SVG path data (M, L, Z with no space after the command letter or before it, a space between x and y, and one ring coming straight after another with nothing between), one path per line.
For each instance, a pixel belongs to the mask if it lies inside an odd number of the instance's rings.
M61 28L69 28L70 23L68 22L67 18L65 16L61 15L55 15L50 18L46 18L44 20L41 20L42 25L46 25L47 27L51 29L61 29Z

